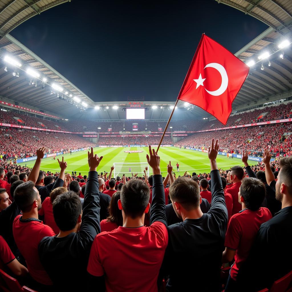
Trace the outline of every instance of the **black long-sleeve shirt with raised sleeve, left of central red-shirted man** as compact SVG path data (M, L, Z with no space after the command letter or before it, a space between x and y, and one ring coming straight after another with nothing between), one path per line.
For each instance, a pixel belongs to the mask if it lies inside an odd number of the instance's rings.
M79 232L66 237L44 237L39 258L54 284L54 291L83 291L91 245L100 233L99 184L96 171L88 173Z

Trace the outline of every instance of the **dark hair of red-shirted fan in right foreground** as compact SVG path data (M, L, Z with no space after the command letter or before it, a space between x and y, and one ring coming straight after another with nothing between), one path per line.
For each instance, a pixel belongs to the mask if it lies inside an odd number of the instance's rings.
M246 208L256 211L265 199L266 188L258 178L244 178L240 186L240 195L244 198Z

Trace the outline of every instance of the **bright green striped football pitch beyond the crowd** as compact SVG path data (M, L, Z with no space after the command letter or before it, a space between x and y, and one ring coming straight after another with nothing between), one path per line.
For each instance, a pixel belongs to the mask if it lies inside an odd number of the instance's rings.
M126 153L125 151L142 151L139 153ZM147 147L96 147L94 148L94 153L98 154L98 156L103 156L100 165L98 166L98 172L108 172L110 171L110 167L114 163L133 163L131 166L131 172L136 173L143 172L143 169L137 166L135 163L137 162L147 162L146 154L148 153ZM189 171L190 174L192 172L198 173L208 173L210 172L210 162L208 159L207 153L197 152L189 149L179 149L177 147L161 147L159 149L160 156L160 168L162 175L167 174L167 164L169 160L173 165L173 171L176 173L176 176L183 175L185 171ZM41 169L44 171L56 172L60 171L59 164L57 158L62 158L62 156L57 156L56 160L52 160L51 157L45 158L41 162ZM72 171L76 171L77 174L81 172L82 175L88 174L88 164L87 164L87 151L74 152L72 155L65 154L64 161L67 162L68 173L72 173ZM177 172L176 163L179 164L180 172ZM23 162L20 165L27 165L29 167L34 166L34 161ZM222 155L217 156L217 165L219 168L228 169L234 165L243 165L241 159L238 158L227 158ZM126 176L129 176L129 170L127 166L124 168L119 174L122 175L125 173ZM116 167L116 170L118 167ZM150 169L151 174L151 169Z

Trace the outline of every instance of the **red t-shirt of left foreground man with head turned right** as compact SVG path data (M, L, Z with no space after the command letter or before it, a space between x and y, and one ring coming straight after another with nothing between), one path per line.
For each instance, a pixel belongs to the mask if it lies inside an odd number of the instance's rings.
M52 281L44 270L38 256L38 245L46 236L54 236L52 228L41 220L30 218L21 220L22 215L15 217L13 222L13 237L15 243L25 258L29 274L39 283L52 285Z

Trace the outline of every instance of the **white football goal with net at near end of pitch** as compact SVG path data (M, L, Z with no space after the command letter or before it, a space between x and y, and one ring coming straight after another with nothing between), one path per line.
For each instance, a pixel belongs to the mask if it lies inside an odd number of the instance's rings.
M136 163L114 163L114 178L117 176L132 176L138 173L137 176L143 176L144 175L144 170L148 167L147 169L147 176L149 176L149 165L147 162L136 162Z

